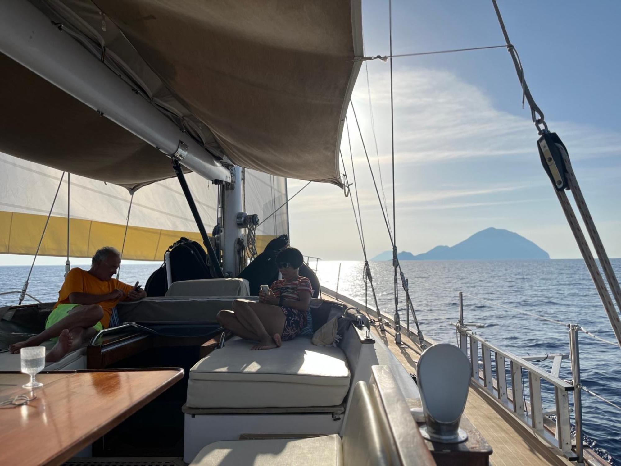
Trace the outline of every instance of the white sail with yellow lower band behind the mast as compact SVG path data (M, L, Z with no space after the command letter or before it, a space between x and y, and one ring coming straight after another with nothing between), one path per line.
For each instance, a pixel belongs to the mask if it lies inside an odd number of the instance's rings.
M0 153L0 253L35 254L61 175L55 168ZM195 173L186 175L186 180L202 222L211 231L217 222L217 186ZM67 181L65 174L40 255L67 254ZM130 191L121 186L84 176L71 175L69 185L71 257L92 257L99 247L110 245L123 249L125 259L162 260L179 237L202 244L176 178L143 186L135 191L133 200ZM284 178L245 170L245 185L248 213L262 218L286 199ZM259 250L274 237L288 233L287 216L286 208L281 209L258 227Z

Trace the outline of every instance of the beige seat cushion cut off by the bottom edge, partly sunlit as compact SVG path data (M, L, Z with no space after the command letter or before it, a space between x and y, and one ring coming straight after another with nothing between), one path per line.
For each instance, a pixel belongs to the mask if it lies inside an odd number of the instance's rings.
M196 455L190 466L341 466L341 439L232 440L214 442Z

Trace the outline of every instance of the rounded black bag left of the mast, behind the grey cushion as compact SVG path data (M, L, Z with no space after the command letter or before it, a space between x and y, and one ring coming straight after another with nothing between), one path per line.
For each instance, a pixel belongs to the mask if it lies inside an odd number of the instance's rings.
M175 281L213 278L209 265L207 265L207 253L196 241L182 237L171 245L167 252L170 252L173 283ZM163 263L148 278L145 292L147 296L165 296L166 290L168 290L166 264Z

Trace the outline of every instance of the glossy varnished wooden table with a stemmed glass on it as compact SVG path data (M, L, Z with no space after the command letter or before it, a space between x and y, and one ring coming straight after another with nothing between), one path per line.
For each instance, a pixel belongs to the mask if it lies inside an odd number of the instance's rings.
M49 372L31 392L28 375L0 372L0 402L37 396L0 409L0 464L63 464L182 377L180 368Z

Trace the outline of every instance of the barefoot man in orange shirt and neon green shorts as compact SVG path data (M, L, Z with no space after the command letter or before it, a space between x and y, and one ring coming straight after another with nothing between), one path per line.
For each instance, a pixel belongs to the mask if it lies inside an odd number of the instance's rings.
M119 251L106 246L95 253L89 270L72 268L58 292L58 302L45 321L45 330L9 346L9 351L19 353L24 347L58 338L55 347L45 357L46 361L55 362L78 349L96 332L109 327L112 309L119 301L134 301L147 296L144 290L112 278L119 265Z

